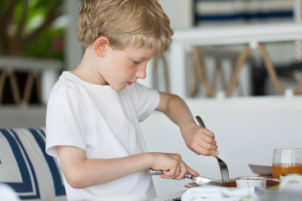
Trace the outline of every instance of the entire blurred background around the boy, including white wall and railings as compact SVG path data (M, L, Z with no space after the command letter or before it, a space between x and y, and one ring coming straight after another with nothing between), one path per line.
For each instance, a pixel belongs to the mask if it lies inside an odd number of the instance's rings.
M149 62L139 82L186 100L215 133L230 177L254 174L249 163L271 165L276 147L300 147L302 1L159 2L174 41ZM78 4L0 1L0 127L45 126L53 84L63 70L75 69L84 53L75 37ZM215 159L188 150L167 117L155 113L141 127L149 151L181 153L203 176L219 178ZM154 181L159 195L188 183Z

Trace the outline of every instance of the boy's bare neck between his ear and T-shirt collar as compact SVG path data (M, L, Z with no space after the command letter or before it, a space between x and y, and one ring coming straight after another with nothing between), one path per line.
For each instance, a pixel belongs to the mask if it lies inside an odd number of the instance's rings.
M97 72L94 65L94 55L90 49L86 49L80 65L72 72L75 76L92 84L108 85L106 80Z

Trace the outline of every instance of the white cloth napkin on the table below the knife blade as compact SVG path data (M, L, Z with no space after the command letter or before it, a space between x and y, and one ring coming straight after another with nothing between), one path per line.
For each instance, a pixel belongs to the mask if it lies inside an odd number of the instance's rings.
M255 187L228 188L222 186L201 186L188 189L181 197L182 201L254 201L258 196Z

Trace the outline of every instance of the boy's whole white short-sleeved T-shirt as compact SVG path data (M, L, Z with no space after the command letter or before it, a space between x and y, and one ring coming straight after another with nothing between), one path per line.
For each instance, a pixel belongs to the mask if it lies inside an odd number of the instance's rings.
M88 83L64 71L48 100L46 153L58 159L58 145L84 149L88 159L146 152L139 122L155 111L159 101L158 91L139 83L116 91L110 85ZM120 168L122 171L123 167ZM157 196L148 169L84 189L72 188L63 178L68 200L100 200L119 195Z

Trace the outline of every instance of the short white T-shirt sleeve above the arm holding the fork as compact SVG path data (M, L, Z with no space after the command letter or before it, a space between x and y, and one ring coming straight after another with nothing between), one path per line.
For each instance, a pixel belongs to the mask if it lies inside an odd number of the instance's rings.
M160 93L137 82L133 83L132 90L138 121L142 122L158 107Z

